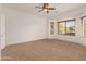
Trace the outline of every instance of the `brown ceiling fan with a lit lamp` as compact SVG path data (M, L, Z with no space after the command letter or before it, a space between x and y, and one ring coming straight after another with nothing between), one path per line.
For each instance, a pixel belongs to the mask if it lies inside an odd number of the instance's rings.
M49 13L50 10L56 10L56 8L50 8L49 3L44 3L42 5L37 5L36 8L40 9L38 12L46 12L47 14Z

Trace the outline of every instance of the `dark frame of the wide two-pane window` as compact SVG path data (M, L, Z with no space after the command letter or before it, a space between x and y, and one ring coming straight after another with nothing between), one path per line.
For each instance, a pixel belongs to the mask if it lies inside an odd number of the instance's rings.
M66 22L71 22L71 21L74 21L74 27L76 27L76 18L72 18L72 20L66 20L66 21L60 21L60 22L58 22L58 35L66 35ZM60 34L59 33L59 23L64 23L65 24L65 27L64 27L64 31L65 31L65 34ZM76 29L75 29L76 30ZM74 30L74 33L75 33L75 30ZM66 35L66 36L73 36L73 35ZM74 35L75 36L75 35Z

